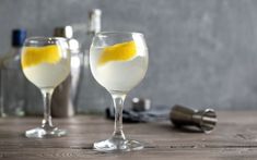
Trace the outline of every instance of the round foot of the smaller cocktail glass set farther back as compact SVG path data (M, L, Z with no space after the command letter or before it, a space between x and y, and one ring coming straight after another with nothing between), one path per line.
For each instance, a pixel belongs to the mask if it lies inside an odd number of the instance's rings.
M25 136L27 138L52 138L52 137L61 137L65 135L67 135L67 131L59 130L58 127L51 127L51 128L36 127L25 132Z

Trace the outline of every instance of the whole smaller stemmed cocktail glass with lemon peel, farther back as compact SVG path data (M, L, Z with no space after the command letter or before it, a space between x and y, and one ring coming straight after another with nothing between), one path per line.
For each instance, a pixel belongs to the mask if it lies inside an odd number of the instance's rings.
M32 37L22 48L22 71L43 95L44 119L42 126L25 132L31 138L59 137L67 134L52 125L50 104L54 89L70 73L70 53L65 38Z

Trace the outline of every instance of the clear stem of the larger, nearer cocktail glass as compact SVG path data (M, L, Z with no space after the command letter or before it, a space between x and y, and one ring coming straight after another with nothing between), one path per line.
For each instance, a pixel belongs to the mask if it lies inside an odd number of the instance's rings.
M126 98L125 94L112 94L115 108L114 138L125 139L122 131L122 109Z

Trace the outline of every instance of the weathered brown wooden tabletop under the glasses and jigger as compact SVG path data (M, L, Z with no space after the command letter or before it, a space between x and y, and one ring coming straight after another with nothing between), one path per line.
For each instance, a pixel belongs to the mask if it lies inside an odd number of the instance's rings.
M125 124L125 133L145 141L141 151L102 153L92 143L107 138L113 122L102 116L75 116L54 122L69 136L28 139L22 133L40 119L0 119L0 159L9 160L242 160L257 159L257 111L218 112L218 126L209 135L173 128L170 122Z

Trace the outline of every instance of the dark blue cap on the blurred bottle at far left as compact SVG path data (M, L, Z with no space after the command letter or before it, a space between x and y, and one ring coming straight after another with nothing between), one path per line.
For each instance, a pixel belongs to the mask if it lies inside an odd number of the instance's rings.
M22 28L12 30L12 46L13 47L22 47L23 42L26 39L26 30Z

